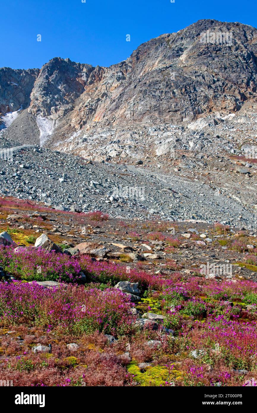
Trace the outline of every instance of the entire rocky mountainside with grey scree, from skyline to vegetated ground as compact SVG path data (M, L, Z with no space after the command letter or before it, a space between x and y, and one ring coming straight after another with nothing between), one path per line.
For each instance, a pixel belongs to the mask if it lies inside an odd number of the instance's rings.
M230 42L201 42L208 30ZM200 20L109 68L54 58L0 69L0 145L14 148L1 194L256 228L256 39Z

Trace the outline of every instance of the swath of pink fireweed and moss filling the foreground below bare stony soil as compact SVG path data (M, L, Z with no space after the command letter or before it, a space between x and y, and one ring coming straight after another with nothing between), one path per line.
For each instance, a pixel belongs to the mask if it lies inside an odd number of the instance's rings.
M35 248L0 247L0 265L17 279L0 282L0 378L14 385L243 386L257 377L256 282L127 272ZM113 288L123 280L139 283L139 303ZM163 316L157 330L139 330L135 306ZM22 347L9 338L12 331ZM108 344L104 334L118 340ZM157 344L149 347L149 340ZM52 342L52 353L33 354L39 341ZM79 347L71 354L72 342ZM151 363L147 374L142 362Z

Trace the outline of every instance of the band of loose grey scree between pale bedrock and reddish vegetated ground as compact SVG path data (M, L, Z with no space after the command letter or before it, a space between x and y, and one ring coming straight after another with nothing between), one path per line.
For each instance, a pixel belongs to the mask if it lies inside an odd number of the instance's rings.
M193 160L193 171L185 172L172 165L159 168L152 164L99 163L46 148L13 147L13 161L0 159L2 195L41 201L66 210L99 209L113 218L198 218L207 223L219 221L256 228L255 164L240 173L240 162L227 158L222 160L222 169L213 171L215 161L208 159L209 168L201 173L202 167L197 165L200 161ZM186 159L192 163L190 158ZM236 173L223 183L224 171L229 168ZM242 180L247 184L239 185Z

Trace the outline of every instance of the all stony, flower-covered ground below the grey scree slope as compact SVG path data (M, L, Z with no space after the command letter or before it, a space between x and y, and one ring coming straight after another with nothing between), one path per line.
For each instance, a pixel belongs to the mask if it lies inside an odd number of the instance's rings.
M0 247L0 378L14 385L231 386L254 377L255 231L121 220L6 197L0 230L19 246ZM50 241L34 248L41 234ZM75 263L73 275L82 269L86 276L80 286L67 284L63 272ZM215 271L203 273L203 265ZM75 315L69 324L81 289L90 309L83 325ZM41 298L32 304L34 295ZM94 318L95 305L103 312ZM107 324L99 319L106 314Z

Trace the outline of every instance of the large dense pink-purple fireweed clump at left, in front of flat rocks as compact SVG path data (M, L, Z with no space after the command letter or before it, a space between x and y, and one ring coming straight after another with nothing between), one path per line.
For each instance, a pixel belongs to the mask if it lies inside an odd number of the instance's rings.
M94 331L117 335L129 332L132 304L120 290L85 290L83 286L61 284L45 289L35 282L0 284L0 316L3 324L35 323L79 335Z

